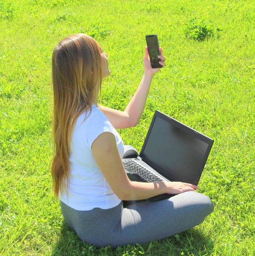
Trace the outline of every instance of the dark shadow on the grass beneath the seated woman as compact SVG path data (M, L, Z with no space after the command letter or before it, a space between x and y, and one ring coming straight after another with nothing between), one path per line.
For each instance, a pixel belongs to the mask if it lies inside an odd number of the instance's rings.
M214 243L209 236L204 235L201 226L178 233L169 238L152 241L148 244L119 246L113 250L110 246L96 248L92 244L79 239L77 234L67 227L65 221L61 224L59 239L52 248L53 256L128 256L155 255L179 256L201 255L209 256L213 253Z

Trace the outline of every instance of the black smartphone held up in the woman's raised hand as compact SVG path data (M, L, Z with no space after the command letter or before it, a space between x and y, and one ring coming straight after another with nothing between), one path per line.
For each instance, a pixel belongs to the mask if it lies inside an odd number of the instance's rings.
M145 38L146 38L146 43L149 51L149 57L150 57L152 68L163 67L161 64L159 64L159 61L162 61L162 59L158 58L158 55L161 55L161 54L159 50L157 35L146 35Z

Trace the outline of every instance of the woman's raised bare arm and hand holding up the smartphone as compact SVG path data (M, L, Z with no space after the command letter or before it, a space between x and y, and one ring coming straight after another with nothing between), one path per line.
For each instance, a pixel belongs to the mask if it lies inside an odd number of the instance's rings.
M163 60L159 63L163 65L163 67L165 67L166 58L163 56L162 48L160 47L159 49L161 55L159 55L158 58L161 58ZM152 83L152 78L155 73L160 70L160 68L152 68L149 60L149 52L147 47L145 48L143 63L144 73L142 81L140 82L139 87L135 92L135 95L132 97L124 111L117 111L115 109L107 108L102 105L99 106L99 108L107 116L115 129L135 127L143 114L143 110L149 93L149 88Z

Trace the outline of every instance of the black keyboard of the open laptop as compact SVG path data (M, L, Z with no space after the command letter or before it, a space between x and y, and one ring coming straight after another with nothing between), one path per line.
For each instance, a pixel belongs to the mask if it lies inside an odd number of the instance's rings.
M160 177L154 175L152 172L149 172L148 169L144 168L133 160L125 161L123 162L123 165L126 170L132 174L138 175L138 177L144 182L163 181Z

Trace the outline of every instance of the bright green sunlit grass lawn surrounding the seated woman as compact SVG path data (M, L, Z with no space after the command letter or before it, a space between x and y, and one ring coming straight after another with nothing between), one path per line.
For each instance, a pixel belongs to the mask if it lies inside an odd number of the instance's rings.
M0 4L0 255L255 255L254 1L9 3ZM213 36L195 40L194 19ZM51 57L76 32L108 54L102 103L119 110L142 78L145 35L158 35L166 67L139 124L119 133L140 151L158 109L215 140L199 183L215 210L198 227L112 250L81 242L65 226L49 172Z

